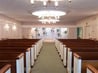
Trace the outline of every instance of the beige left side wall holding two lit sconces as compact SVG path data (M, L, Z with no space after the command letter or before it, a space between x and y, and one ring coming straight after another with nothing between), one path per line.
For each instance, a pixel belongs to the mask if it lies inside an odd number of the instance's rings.
M9 25L9 29L6 30L4 27L5 25ZM16 25L16 30L13 30L13 24ZM7 38L22 38L21 35L21 23L17 22L14 19L11 19L5 15L0 14L0 39L7 39Z

